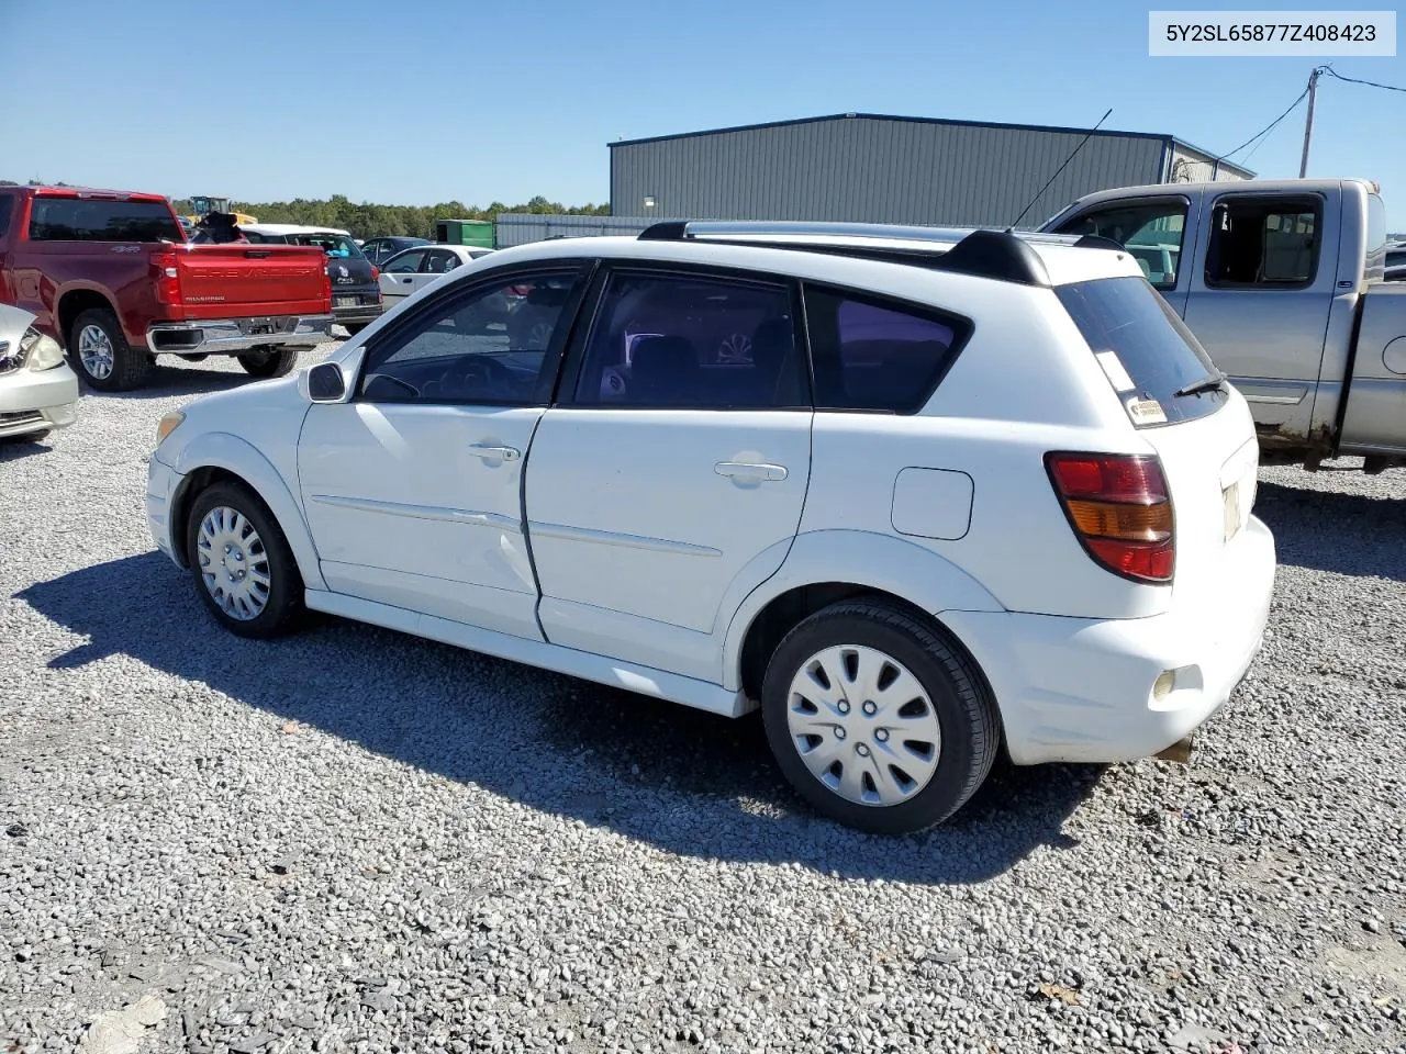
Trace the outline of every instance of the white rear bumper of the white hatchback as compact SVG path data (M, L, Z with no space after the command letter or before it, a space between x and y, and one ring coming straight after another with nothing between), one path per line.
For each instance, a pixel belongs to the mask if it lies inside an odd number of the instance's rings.
M1215 714L1270 618L1274 537L1250 517L1215 594L1150 618L945 611L981 665L1017 765L1150 757ZM1175 670L1164 698L1153 683Z

